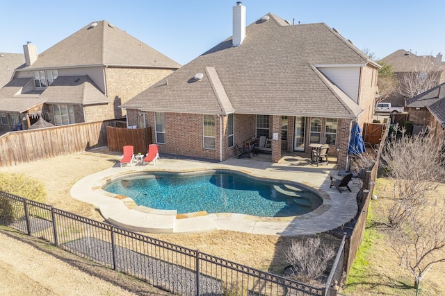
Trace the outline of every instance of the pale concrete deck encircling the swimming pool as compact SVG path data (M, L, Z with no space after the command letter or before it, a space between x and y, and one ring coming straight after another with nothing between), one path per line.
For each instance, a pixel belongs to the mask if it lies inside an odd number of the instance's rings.
M145 171L206 171L231 170L253 177L280 179L310 186L323 197L321 207L308 214L293 217L269 218L243 214L177 214L176 211L163 211L140 207L131 198L115 195L102 190L109 180L129 173ZM353 191L339 191L330 188L330 175L337 175L337 166L312 166L304 155L287 155L273 164L259 161L259 158L232 158L225 162L211 163L197 160L161 158L156 165L140 164L120 167L119 162L112 168L88 175L76 182L71 189L73 198L95 205L108 223L135 232L146 233L185 233L207 232L212 230L233 230L252 234L275 234L282 236L315 234L334 229L347 223L357 212L356 195L359 181L349 183Z

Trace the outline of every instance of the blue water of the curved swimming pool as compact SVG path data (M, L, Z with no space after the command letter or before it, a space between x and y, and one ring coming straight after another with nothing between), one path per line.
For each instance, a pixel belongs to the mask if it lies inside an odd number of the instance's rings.
M286 217L308 213L322 204L318 195L295 184L226 172L130 175L109 182L103 189L128 196L145 207L176 209L178 214L207 211Z

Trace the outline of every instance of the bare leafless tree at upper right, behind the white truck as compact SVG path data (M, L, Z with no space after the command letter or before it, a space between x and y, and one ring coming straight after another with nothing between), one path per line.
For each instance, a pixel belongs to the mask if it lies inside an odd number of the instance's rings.
M439 85L442 70L428 58L423 58L410 72L399 77L398 91L407 98L412 98Z

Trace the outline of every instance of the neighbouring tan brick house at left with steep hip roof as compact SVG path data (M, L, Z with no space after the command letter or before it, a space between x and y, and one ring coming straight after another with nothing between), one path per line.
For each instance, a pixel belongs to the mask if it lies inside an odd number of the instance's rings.
M54 125L122 118L119 107L180 65L108 23L97 21L43 53L24 45L25 64L0 89L3 130L40 116Z

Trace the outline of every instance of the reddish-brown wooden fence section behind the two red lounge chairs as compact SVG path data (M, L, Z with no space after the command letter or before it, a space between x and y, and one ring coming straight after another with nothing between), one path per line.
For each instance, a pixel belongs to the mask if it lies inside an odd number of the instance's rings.
M147 153L152 144L152 128L113 128L106 127L108 150L122 152L126 145L134 147L134 153Z

